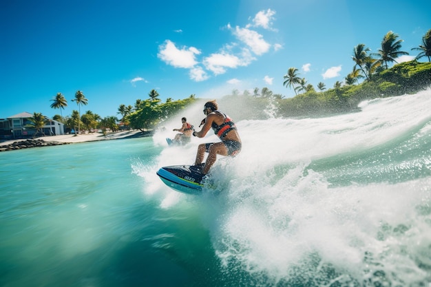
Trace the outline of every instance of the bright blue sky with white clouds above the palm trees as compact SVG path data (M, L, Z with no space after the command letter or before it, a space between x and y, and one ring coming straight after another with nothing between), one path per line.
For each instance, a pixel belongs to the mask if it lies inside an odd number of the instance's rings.
M352 70L353 47L377 52L390 30L410 57L431 29L431 1L411 0L3 0L0 1L0 118L50 107L63 116L119 116L156 89L160 99L220 98L268 87L285 98L289 67L315 87Z

